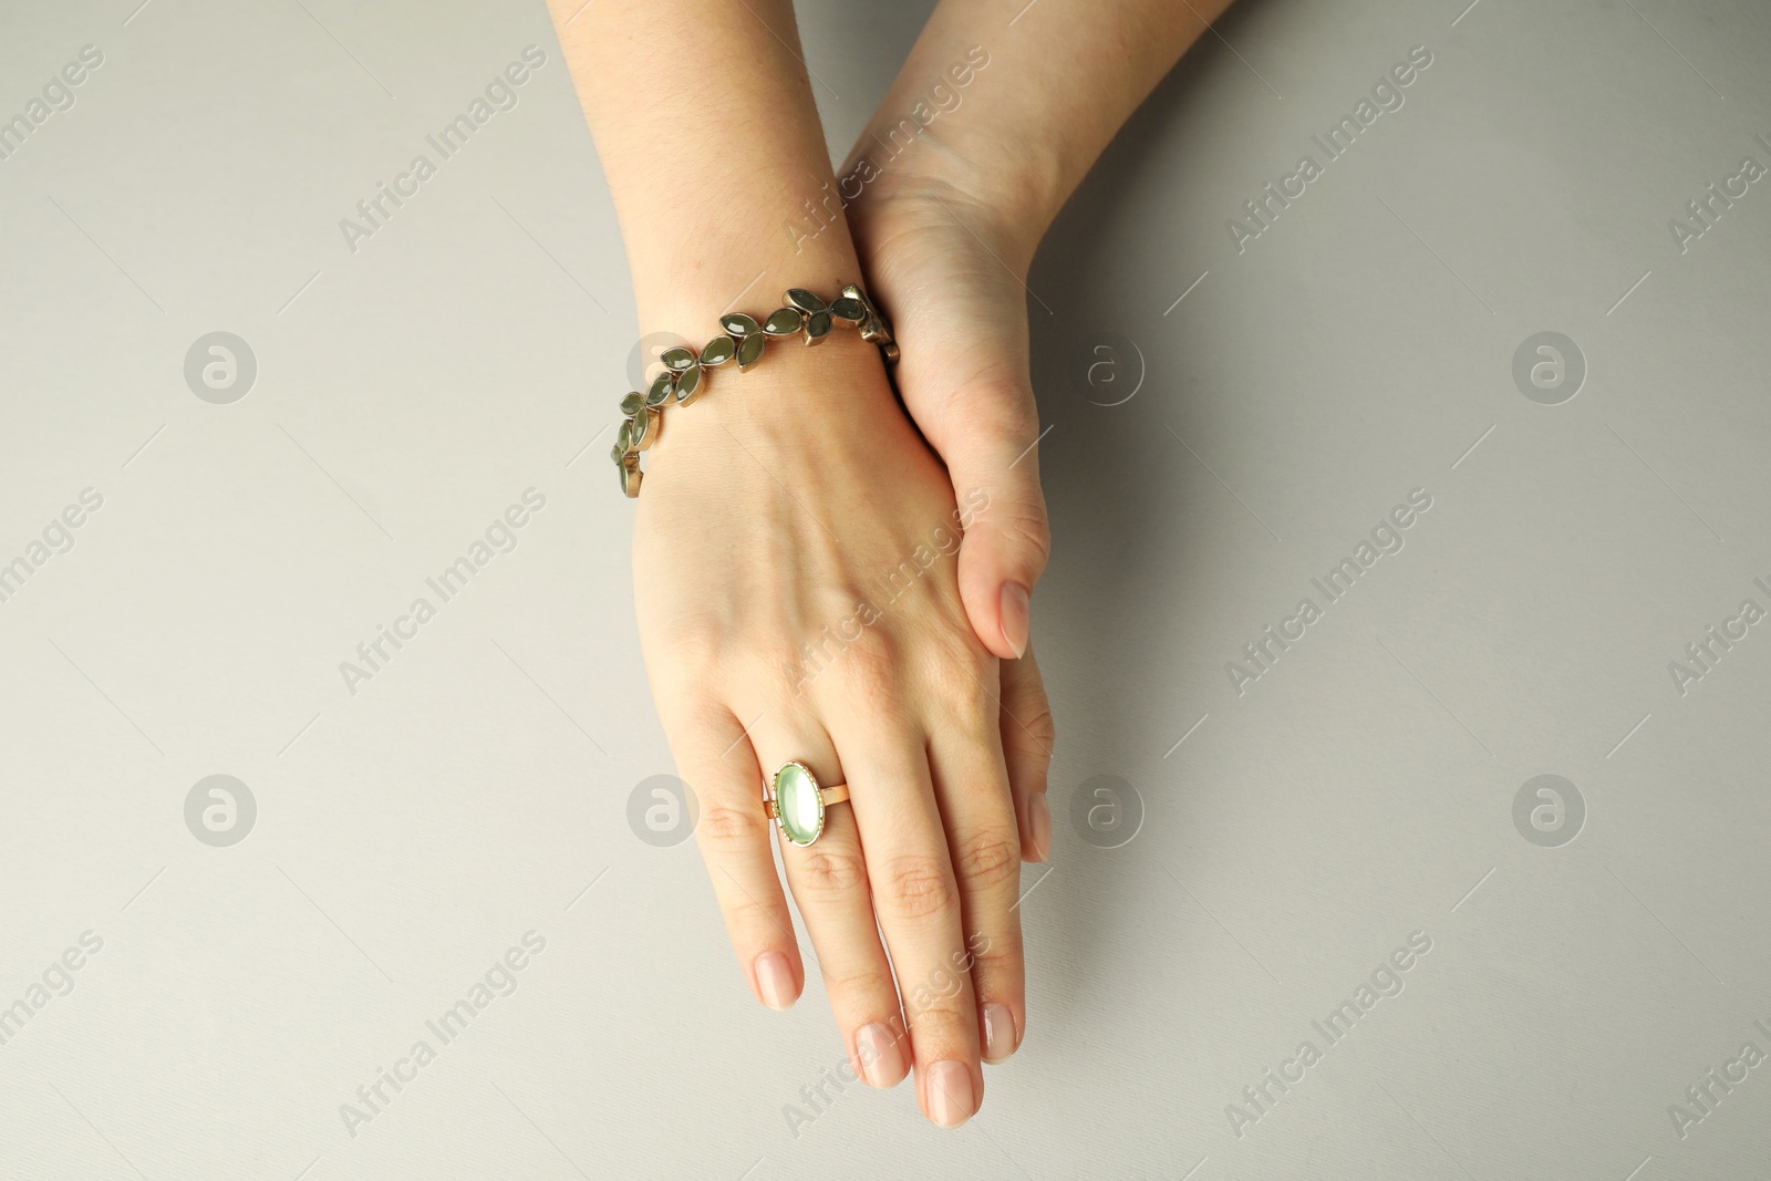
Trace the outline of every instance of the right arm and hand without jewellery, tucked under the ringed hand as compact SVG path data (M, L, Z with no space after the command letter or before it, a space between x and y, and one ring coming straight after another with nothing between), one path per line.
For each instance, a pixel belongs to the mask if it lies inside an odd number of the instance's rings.
M1027 269L1107 142L1227 5L1121 0L1077 19L1063 5L942 0L843 168L868 283L903 347L905 407L953 487L988 498L958 577L972 629L1004 660L1027 646L1050 549ZM1002 740L1017 788L1040 800L1024 832L1043 855L1050 714L1025 659L1002 668Z

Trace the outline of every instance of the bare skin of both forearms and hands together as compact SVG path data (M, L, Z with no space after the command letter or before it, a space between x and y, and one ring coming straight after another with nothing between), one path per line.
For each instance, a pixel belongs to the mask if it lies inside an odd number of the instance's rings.
M839 189L788 0L549 5L641 335L701 343L728 308L765 315L786 287L831 297L845 282L866 282L894 319L903 407L878 351L838 329L815 349L774 342L742 375L714 370L694 405L666 413L636 506L634 591L751 990L786 1007L804 986L762 811L765 776L799 760L852 793L816 845L779 841L852 1064L877 1087L914 1068L923 1112L958 1126L983 1100L981 1062L1027 1030L1020 861L1050 848L1052 721L1029 650L1048 533L1025 271L1204 25L1153 0L1110 19L1043 0L1009 28L1020 4L947 0L875 127L988 44L967 106L847 218L795 239L781 230L804 223L804 202Z

